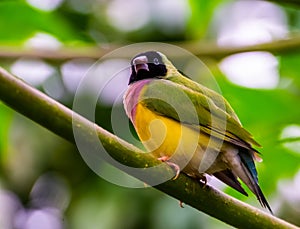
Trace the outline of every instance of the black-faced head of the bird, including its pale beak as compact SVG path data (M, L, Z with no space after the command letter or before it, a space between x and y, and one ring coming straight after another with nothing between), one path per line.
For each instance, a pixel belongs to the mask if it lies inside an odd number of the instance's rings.
M163 77L166 74L167 67L159 52L140 53L131 60L129 84L143 79Z

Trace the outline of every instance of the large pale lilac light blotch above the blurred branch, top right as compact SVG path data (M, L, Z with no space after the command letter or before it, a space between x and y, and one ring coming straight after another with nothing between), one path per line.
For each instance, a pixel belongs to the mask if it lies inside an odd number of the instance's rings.
M285 38L288 34L285 13L265 1L228 4L218 12L215 26L220 46L254 45Z

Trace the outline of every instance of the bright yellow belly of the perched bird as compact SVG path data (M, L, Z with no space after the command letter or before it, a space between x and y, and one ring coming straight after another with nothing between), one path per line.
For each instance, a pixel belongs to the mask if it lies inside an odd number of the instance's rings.
M190 163L193 158L198 167L202 158L199 140L204 143L209 138L201 135L179 122L158 115L151 110L137 105L134 126L143 145L157 157L167 156L181 168ZM196 158L194 157L197 152ZM200 154L199 154L200 153ZM193 163L192 163L193 164Z

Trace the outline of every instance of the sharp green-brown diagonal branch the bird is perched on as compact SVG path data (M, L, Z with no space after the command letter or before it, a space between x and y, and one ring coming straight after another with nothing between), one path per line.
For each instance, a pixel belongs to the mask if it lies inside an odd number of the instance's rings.
M154 176L172 175L172 169L159 162L150 154L142 153L133 145L119 139L84 117L61 105L47 95L24 83L22 80L0 68L0 99L16 111L46 127L62 138L75 144L72 120L89 144L91 133L97 133L109 154L131 167L146 168L161 164L161 168L151 174L131 174L149 182ZM73 118L73 119L72 119ZM184 174L176 180L170 180L155 186L156 189L183 201L225 223L238 228L297 228L279 218L238 201L210 186L201 186L199 182Z

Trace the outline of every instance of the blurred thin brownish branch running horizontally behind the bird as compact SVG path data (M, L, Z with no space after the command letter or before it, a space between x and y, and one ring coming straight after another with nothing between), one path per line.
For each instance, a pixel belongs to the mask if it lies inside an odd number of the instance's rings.
M213 42L200 42L200 41L190 41L190 42L177 42L173 43L179 47L182 47L194 55L203 58L210 57L214 59L221 59L228 55L237 54L241 52L251 52L251 51L267 51L275 55L283 54L288 52L296 52L300 49L300 35L293 36L291 38L275 40L268 43L249 45L243 47L220 47ZM64 47L60 50L39 50L39 49L21 49L20 47L0 47L0 58L20 58L20 57L30 57L30 58L43 58L49 60L63 61L67 59L74 58L93 58L98 59L105 54L122 47L122 45L110 45L109 47L81 47L81 48L67 48ZM132 53L123 53L123 56L119 58L131 58L136 53L133 50Z

